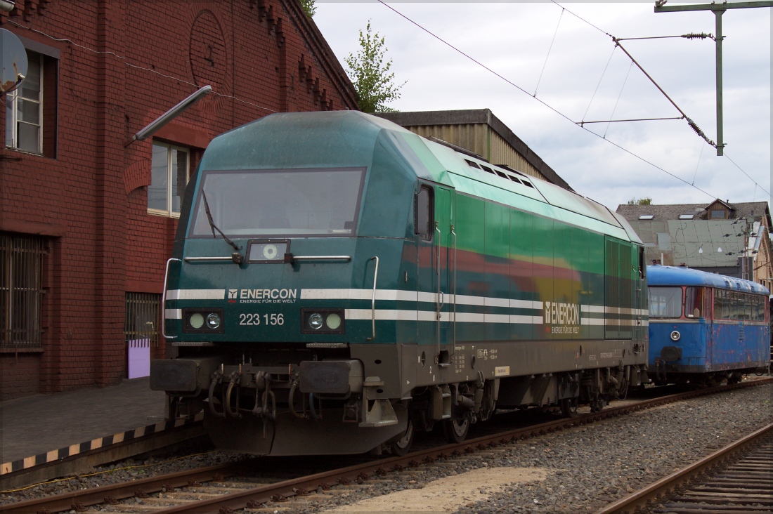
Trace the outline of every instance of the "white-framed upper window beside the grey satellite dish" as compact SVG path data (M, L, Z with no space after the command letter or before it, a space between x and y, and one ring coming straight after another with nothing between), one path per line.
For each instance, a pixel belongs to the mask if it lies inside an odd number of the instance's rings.
M27 50L27 74L5 95L5 146L43 153L43 56Z

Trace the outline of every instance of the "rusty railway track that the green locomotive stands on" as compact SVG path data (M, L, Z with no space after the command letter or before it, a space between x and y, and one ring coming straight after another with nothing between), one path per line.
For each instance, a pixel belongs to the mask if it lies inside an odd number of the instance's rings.
M170 475L142 478L132 482L87 488L80 491L31 499L7 505L0 505L0 512L8 514L53 514L75 510L87 511L90 505L100 505L100 512L154 512L155 514L212 512L233 512L237 509L257 509L267 502L284 502L288 499L313 500L318 491L328 496L337 494L341 488L378 480L383 475L419 468L423 465L441 464L453 458L509 444L520 439L536 437L555 431L562 431L582 424L593 423L610 417L630 414L637 410L659 407L666 403L683 401L692 397L735 390L743 387L769 383L773 379L754 380L734 386L719 386L706 390L672 394L636 403L608 407L598 413L581 414L574 418L551 420L516 430L503 431L475 437L461 444L446 444L440 447L414 451L403 457L381 458L359 462L345 468L324 469L324 465L313 468L314 459L307 459L305 465L288 466L284 471L271 468L271 473L256 474L256 463L267 463L265 458L250 459L237 465L217 465ZM339 459L340 460L340 459ZM321 459L322 462L325 459ZM328 459L329 461L329 459ZM274 464L278 461L273 460ZM266 466L263 466L266 468ZM302 468L306 474L295 473L291 468ZM322 469L320 469L322 468ZM278 471L281 475L278 475ZM327 492L331 491L332 492ZM328 496L329 497L329 496Z

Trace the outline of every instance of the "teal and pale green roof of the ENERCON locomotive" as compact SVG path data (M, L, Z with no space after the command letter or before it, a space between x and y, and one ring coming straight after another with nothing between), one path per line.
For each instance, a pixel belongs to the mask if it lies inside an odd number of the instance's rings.
M199 170L332 167L366 168L370 175L388 175L388 181L367 178L366 188L392 187L399 182L415 184L417 179L424 179L451 186L457 193L641 244L628 222L600 203L536 177L462 154L391 121L359 111L262 117L213 139ZM380 226L372 223L369 235L403 236L389 233L386 221ZM404 226L401 220L393 221L395 226Z

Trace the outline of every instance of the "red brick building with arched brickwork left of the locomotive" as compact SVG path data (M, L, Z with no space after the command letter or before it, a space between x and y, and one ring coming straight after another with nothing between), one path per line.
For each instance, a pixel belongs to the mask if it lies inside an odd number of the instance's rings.
M298 0L16 0L27 49L2 99L2 398L115 383L158 341L184 186L209 141L272 112L356 109ZM193 91L153 138L131 136ZM176 212L175 212L176 211Z

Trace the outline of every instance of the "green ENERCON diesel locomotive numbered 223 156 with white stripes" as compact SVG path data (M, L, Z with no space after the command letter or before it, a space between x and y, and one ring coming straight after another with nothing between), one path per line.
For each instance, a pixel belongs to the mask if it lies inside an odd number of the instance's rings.
M215 138L165 278L169 417L218 448L402 454L647 380L642 243L574 192L355 111Z

